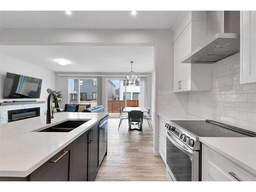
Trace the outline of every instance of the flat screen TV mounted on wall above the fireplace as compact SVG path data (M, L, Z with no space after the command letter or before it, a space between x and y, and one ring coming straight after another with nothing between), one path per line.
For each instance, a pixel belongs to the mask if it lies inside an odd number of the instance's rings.
M40 98L42 79L6 73L4 98Z

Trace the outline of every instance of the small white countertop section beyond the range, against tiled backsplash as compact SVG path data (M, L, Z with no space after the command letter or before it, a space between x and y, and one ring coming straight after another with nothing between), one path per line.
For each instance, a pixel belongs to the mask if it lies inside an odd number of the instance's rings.
M205 119L189 115L189 114L174 114L174 113L164 113L164 112L158 112L158 115L163 117L166 120L170 121L204 121Z

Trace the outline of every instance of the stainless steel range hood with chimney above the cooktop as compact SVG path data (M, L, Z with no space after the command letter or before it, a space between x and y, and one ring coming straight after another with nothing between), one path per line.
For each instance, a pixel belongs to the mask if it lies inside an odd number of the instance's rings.
M240 52L240 12L224 11L222 19L224 33L209 38L204 45L183 58L182 63L215 63Z

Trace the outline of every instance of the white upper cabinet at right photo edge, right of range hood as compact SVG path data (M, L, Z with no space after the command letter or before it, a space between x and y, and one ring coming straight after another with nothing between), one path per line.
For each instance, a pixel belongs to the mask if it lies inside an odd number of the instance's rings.
M256 11L241 11L240 40L240 82L256 82Z

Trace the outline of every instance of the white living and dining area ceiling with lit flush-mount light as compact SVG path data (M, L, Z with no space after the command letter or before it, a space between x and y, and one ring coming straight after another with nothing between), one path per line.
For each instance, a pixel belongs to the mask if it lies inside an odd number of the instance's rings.
M134 61L137 73L152 72L152 46L0 46L0 53L55 72L127 73ZM60 66L54 59L67 59Z

